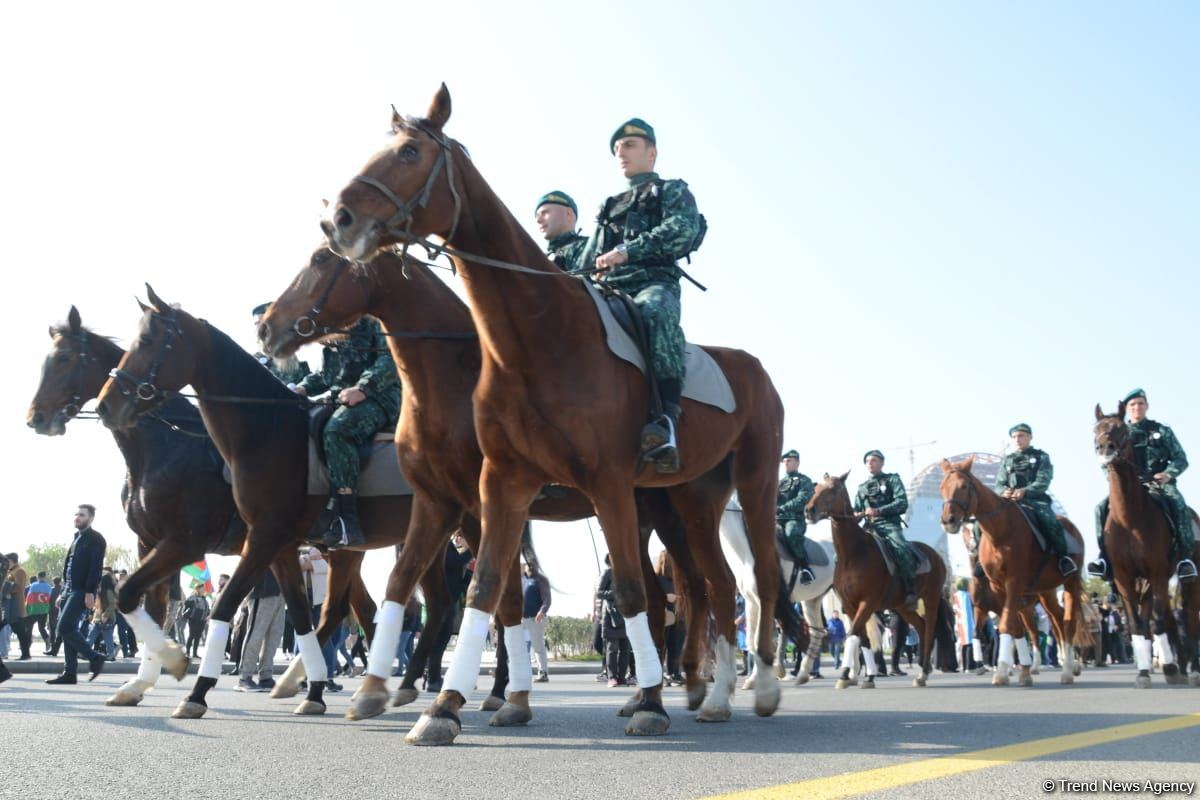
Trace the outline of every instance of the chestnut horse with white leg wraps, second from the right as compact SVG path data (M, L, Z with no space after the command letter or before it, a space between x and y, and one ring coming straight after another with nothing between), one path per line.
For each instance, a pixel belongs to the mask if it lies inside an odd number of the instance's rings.
M1033 540L1033 531L1015 500L1003 498L984 486L983 481L971 473L974 457L952 464L942 459L942 528L949 534L956 534L965 522L974 517L979 522L983 536L979 541L979 564L991 584L996 597L1003 602L1000 614L1000 655L996 657L996 674L991 682L995 686L1008 685L1008 670L1013 666L1013 644L1016 644L1018 658L1021 664L1019 682L1030 686L1033 682L1033 666L1028 642L1025 639L1026 626L1021 621L1021 608L1030 603L1031 597L1042 601L1054 625L1058 642L1066 644L1063 668L1060 675L1062 684L1075 682L1075 651L1072 644L1080 636L1079 593L1082 589L1079 572L1063 579L1055 566L1055 559L1049 553L1039 552ZM1063 530L1079 543L1084 552L1084 540L1079 529L1066 517L1058 517ZM1078 561L1079 558L1076 557ZM1057 589L1063 587L1064 608L1058 606ZM1037 627L1031 631L1037 634ZM1086 636L1086 633L1084 634Z

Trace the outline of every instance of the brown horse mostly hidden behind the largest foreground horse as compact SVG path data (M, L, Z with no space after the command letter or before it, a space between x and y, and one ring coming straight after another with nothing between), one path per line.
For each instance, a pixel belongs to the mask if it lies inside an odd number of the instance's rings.
M352 266L326 247L320 247L292 285L271 303L259 327L259 339L264 351L287 357L306 342L348 329L362 314L377 317L383 323L403 381L404 407L396 428L396 444L404 473L415 487L413 519L455 525L463 515L478 515L479 473L484 455L475 435L470 395L479 381L479 341L467 306L428 267L413 259L402 259L394 252L382 253L370 264ZM680 594L688 594L696 609L686 618L689 636L682 656L688 674L689 705L695 709L704 698L707 687L707 681L700 675L700 648L707 638L709 603L703 576L709 576L714 610L725 626L733 622L733 583L719 542L706 540L704 534L710 531L704 530L685 540L682 521L664 491L638 491L637 500L643 551L650 529L656 529L659 539L676 559ZM433 506L436 512L426 511L426 505ZM565 487L552 487L530 506L530 515L536 519L571 521L593 513L592 504L583 494ZM430 529L426 535L422 529L421 536L414 535L401 552L391 578L398 596L404 597L412 591L412 577L438 554L444 534L444 530ZM473 548L479 546L478 540L469 543ZM643 569L646 564L648 560L643 558ZM649 585L656 588L658 583L655 581ZM654 613L650 614L655 620L653 630L659 633L662 602L656 591L652 591L650 596L655 600L652 603ZM506 633L514 643L523 637L520 610L515 613L516 616L505 621L514 628ZM383 638L379 642L378 646L384 650L391 646ZM530 714L529 687L523 682L529 678L524 645L520 644L510 652L515 669L521 670L522 676L514 681L514 694L509 700L511 708L497 715L496 724L527 721ZM353 699L350 715L354 718L383 711L385 678L385 674L368 670ZM732 712L728 704L732 682L732 666L724 664L709 702L701 709L701 720L728 718ZM415 696L415 690L406 680L397 699L408 702Z

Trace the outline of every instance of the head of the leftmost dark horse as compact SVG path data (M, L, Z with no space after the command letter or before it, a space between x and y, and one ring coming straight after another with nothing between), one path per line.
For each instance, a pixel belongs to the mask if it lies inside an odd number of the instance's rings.
M100 393L108 379L112 363L106 361L113 356L97 350L116 350L116 345L84 327L74 306L67 313L66 324L50 326L50 353L42 365L42 380L29 404L25 423L42 435L58 437L66 433L67 422Z

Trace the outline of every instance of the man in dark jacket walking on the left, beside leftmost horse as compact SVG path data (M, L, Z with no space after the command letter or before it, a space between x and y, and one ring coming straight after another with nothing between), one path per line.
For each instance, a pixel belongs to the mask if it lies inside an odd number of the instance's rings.
M47 684L74 684L79 670L78 658L88 660L91 678L104 668L104 656L92 650L79 634L79 621L86 610L96 606L96 591L100 588L100 569L104 564L107 543L104 537L91 529L96 518L96 506L80 505L76 511L76 536L67 551L67 560L62 567L62 610L59 612L56 640L62 643L62 674L52 678Z

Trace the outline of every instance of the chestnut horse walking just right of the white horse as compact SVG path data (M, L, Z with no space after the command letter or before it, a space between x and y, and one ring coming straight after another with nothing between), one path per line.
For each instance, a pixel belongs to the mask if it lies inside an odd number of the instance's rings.
M914 609L904 604L904 588L900 582L888 575L887 561L883 560L876 536L869 534L858 524L854 507L846 489L845 473L840 477L826 475L817 483L812 498L804 513L809 524L829 519L833 529L833 546L838 552L838 564L833 573L833 588L841 597L842 608L848 616L846 645L841 658L841 678L836 687L845 688L857 682L858 651L871 616L878 610L890 608L920 632L920 673L912 679L913 686L924 686L929 673L934 670L931 652L934 634L941 619L942 587L946 584L946 565L942 557L929 545L917 542L916 547L929 559L929 572L917 576L917 595L925 602L924 618ZM866 678L863 688L875 688L877 670L875 651L868 648L863 654L866 662Z

